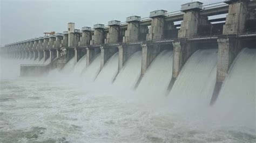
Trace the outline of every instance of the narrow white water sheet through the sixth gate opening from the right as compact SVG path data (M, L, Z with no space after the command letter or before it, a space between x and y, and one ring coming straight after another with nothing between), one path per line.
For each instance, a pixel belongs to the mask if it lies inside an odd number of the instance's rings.
M83 80L86 82L93 82L95 81L96 76L98 75L100 70L100 54L98 54L95 58L95 60L92 61L92 63L87 67L83 73Z

